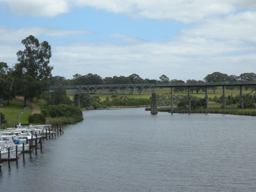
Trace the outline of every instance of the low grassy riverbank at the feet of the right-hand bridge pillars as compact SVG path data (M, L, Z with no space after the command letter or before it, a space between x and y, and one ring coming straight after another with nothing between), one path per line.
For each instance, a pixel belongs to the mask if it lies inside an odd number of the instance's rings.
M150 111L151 108L146 108L146 111ZM171 107L157 108L158 112L169 113L213 113L213 114L230 114L230 115L244 115L244 116L256 116L255 108L248 109L222 109L222 108L210 108L210 109L192 109L192 110L174 110L171 111Z

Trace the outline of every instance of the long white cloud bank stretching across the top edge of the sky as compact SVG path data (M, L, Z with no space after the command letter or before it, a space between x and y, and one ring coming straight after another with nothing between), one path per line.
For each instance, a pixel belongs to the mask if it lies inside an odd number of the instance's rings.
M256 9L254 0L0 0L14 12L52 17L69 12L73 7L127 14L133 18L171 19L184 23L199 22L208 16L227 15L236 10Z

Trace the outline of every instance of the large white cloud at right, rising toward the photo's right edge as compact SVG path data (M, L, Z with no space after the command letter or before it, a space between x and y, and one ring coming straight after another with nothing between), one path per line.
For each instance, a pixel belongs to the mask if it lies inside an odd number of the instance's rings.
M256 12L229 14L224 18L209 18L200 25L183 28L178 38L210 38L244 40L256 43Z

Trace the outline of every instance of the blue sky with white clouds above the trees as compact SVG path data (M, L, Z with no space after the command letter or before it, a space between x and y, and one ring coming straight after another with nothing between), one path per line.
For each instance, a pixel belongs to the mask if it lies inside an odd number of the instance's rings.
M17 63L29 35L67 79L256 73L255 0L0 0L0 62Z

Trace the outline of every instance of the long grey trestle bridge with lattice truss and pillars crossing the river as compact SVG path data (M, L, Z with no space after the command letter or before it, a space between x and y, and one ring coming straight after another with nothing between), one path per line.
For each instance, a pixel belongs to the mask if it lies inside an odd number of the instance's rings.
M125 92L131 92L131 93L152 92L151 114L156 114L157 102L156 102L155 88L171 88L171 110L173 111L173 88L175 87L188 88L188 109L191 110L190 87L205 87L205 108L208 109L208 87L215 87L215 86L221 86L223 89L222 99L223 99L224 109L226 109L225 87L240 86L240 100L230 108L233 108L238 103L240 103L242 108L244 108L242 86L256 86L256 82L255 81L237 81L237 82L162 83L162 84L71 85L71 86L50 86L49 91L50 93L52 93L58 87L62 87L66 89L66 92L75 92L76 107L80 107L79 94L82 94L82 93L123 93L124 94ZM252 92L250 92L249 94L251 94ZM247 94L246 96L248 96L249 94ZM254 98L254 96L255 94L253 95L252 99Z

